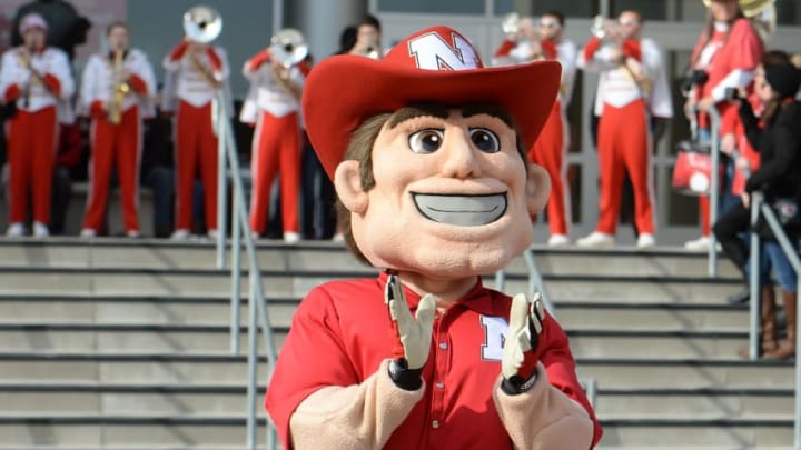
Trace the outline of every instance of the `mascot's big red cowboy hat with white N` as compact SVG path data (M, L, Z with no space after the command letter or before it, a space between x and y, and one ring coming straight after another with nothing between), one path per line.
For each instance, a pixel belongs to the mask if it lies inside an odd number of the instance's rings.
M404 39L382 60L355 54L323 60L306 80L303 112L312 144L334 179L364 120L411 103L497 104L530 148L556 100L560 77L556 61L484 68L467 39L437 26Z

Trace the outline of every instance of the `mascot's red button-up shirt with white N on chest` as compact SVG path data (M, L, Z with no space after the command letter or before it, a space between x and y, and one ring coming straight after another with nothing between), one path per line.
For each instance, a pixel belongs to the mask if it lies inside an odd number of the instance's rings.
M266 407L289 448L289 418L306 397L328 386L358 384L392 354L394 339L384 304L386 276L335 281L315 288L300 303L267 390ZM414 314L419 296L404 288ZM434 320L425 394L385 449L512 449L492 389L501 373L502 332L512 299L481 281ZM584 406L601 427L576 379L567 337L553 318L540 337L551 384ZM436 424L435 424L436 421Z

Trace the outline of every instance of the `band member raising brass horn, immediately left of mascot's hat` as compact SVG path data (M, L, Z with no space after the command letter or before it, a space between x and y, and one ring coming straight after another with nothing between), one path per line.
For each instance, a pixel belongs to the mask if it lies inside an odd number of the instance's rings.
M295 30L285 30L285 33ZM296 39L303 39L297 33ZM298 41L299 42L299 41ZM276 171L280 178L284 240L300 239L298 193L300 186L300 94L308 68L303 63L281 61L275 46L261 50L245 62L243 74L250 81L255 102L256 131L253 138L250 228L260 236L267 228L267 213ZM291 56L286 56L291 57ZM289 66L289 67L287 67ZM243 111L245 112L245 111ZM253 121L241 117L244 122Z

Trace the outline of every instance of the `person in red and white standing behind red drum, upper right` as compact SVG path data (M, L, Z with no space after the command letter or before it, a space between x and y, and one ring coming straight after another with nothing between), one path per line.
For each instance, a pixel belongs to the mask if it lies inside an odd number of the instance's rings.
M764 54L764 43L751 21L743 14L738 0L703 0L709 7L706 27L692 53L691 89L685 109L715 107L721 116L731 107L725 100L726 88L748 88ZM701 134L709 140L709 117L698 118ZM684 243L691 250L705 250L710 244L710 201L699 198L701 237Z

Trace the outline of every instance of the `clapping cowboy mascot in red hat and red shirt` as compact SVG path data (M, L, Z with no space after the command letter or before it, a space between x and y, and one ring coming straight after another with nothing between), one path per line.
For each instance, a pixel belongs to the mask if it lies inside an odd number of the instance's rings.
M540 296L481 281L532 242L550 187L525 152L558 83L554 61L484 68L446 27L309 73L304 117L345 240L383 271L317 287L296 311L266 398L284 448L597 443Z

